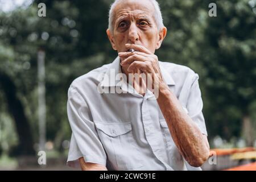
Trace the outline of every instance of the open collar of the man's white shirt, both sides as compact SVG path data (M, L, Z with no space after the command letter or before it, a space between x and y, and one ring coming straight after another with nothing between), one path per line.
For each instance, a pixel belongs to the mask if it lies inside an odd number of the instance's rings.
M163 65L159 63L159 66L166 84L175 85L174 80L172 79L170 74L166 71L166 69L164 69ZM101 81L101 86L104 86L104 87L117 86L117 84L121 81L119 77L121 76L121 74L119 74L118 76L117 75L118 73L122 73L119 56L117 56L115 60L112 63L110 63L110 67L104 74L103 80Z

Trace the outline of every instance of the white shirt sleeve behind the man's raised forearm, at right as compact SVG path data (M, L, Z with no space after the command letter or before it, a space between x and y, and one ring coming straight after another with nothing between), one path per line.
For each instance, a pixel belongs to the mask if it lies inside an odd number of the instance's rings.
M204 135L207 134L207 129L205 126L204 115L203 115L203 100L201 97L201 90L199 88L199 75L196 73L192 79L191 89L188 94L187 100L187 111L189 117L196 123L200 131Z

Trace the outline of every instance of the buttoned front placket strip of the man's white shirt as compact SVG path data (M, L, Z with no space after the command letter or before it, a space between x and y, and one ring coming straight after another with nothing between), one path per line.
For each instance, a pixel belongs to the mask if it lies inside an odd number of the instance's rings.
M144 126L144 133L146 135L146 139L148 144L150 144L151 150L153 151L156 158L166 167L168 171L172 171L172 169L167 163L163 161L163 156L161 154L158 137L154 133L154 127L152 126L152 119L150 116L150 110L148 107L148 92L146 92L145 97L143 97L142 102L142 122Z

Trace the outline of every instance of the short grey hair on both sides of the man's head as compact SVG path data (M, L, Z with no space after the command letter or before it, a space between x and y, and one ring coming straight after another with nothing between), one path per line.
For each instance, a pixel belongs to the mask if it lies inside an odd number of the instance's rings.
M117 5L117 3L120 2L120 1L123 1L123 0L115 0L114 3L112 3L112 5L110 6L110 10L109 10L109 30L112 33L114 31L113 10L114 10L115 6ZM148 0L148 1L150 1L152 3L152 5L154 6L154 8L155 8L153 18L155 20L156 26L158 27L158 31L159 31L161 28L164 27L162 13L160 11L159 3L156 0Z

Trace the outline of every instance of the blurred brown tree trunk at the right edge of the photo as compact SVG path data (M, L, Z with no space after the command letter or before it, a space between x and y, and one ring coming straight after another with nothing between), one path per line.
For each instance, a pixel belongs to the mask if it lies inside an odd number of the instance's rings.
M248 115L243 116L243 126L242 134L245 138L247 147L253 147L254 144L254 135L253 135L253 126L251 124L251 119Z

